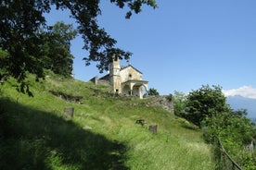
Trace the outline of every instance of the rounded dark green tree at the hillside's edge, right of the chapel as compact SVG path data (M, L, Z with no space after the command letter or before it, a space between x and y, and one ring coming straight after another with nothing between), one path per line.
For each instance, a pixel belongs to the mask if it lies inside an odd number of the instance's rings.
M186 119L201 127L206 117L227 111L228 105L220 86L202 86L187 95Z

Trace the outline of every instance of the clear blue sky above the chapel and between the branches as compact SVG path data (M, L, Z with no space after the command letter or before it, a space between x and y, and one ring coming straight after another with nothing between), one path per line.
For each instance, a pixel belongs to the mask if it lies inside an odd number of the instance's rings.
M149 88L160 94L185 93L202 85L220 85L226 94L246 91L256 98L255 0L157 0L158 8L125 19L124 9L102 0L98 18L117 47L132 52L131 64ZM74 22L68 13L52 12L49 24ZM72 41L75 79L101 77L93 64L85 67L83 40ZM122 65L127 65L122 62ZM106 74L106 73L105 73ZM232 90L232 91L229 91Z

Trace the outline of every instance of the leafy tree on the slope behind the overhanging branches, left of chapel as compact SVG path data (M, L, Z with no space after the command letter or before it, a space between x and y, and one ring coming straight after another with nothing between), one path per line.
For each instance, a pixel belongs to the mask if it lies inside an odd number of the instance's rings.
M48 32L42 32L45 37L43 49L45 57L43 66L54 73L70 77L72 72L73 55L70 54L70 41L77 32L72 25L64 22L56 23Z

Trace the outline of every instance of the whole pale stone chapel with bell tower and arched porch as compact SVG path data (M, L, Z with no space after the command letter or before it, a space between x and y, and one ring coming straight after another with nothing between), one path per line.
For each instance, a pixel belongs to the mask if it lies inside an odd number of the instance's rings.
M132 65L120 66L118 56L113 56L109 63L109 74L97 79L91 79L96 84L109 84L112 91L124 95L137 96L143 98L143 91L148 91L147 80L142 79L142 72Z

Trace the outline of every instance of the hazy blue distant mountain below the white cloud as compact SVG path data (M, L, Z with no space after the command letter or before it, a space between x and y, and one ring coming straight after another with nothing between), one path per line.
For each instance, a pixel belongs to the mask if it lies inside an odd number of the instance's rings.
M226 98L226 100L234 110L247 109L248 116L256 123L256 99L250 99L236 95L229 96Z

